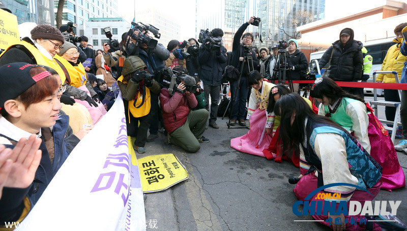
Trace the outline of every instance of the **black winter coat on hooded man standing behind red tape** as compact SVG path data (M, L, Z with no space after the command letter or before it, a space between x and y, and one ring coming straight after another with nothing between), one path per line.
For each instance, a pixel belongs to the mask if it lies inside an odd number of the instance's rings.
M319 68L322 69L329 62L332 49L331 65L328 68L329 78L335 81L356 82L362 79L363 71L363 44L354 40L349 46L343 47L340 41L336 41L325 51L319 60Z

